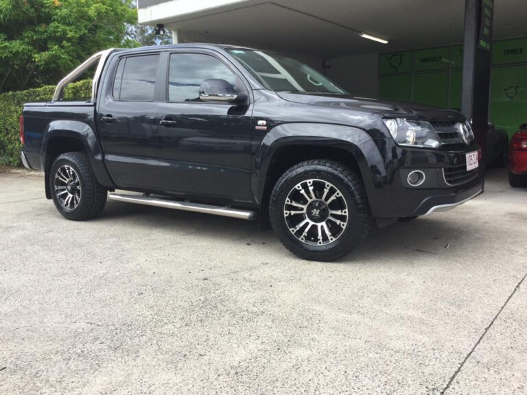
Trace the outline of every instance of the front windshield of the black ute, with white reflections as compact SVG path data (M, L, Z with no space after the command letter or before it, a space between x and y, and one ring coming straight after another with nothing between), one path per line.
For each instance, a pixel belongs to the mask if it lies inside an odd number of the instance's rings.
M228 51L271 91L347 94L327 77L298 60L253 49Z

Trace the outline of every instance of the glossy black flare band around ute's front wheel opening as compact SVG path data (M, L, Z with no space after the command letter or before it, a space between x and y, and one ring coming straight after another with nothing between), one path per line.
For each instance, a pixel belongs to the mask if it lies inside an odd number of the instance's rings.
M325 123L286 123L278 125L264 136L255 158L255 171L251 188L255 200L261 204L266 188L272 158L277 150L288 145L317 145L333 147L349 152L357 163L372 215L382 217L383 206L390 201L386 164L381 154L384 139L374 140L371 135L359 128Z

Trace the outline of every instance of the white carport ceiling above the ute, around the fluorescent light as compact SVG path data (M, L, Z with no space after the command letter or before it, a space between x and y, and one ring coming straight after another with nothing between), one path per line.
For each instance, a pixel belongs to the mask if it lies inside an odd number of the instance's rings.
M464 12L464 0L249 0L156 23L178 29L185 41L331 58L461 44ZM495 0L496 40L527 36L526 21L526 0Z

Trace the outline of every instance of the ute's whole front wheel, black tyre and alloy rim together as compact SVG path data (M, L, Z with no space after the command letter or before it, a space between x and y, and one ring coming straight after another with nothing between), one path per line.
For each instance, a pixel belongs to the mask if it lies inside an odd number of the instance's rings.
M371 226L360 176L331 160L308 160L286 171L271 193L269 213L285 248L311 261L348 254Z

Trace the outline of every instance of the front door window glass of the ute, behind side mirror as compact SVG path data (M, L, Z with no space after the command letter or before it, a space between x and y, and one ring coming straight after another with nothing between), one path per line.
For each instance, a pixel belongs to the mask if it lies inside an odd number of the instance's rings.
M219 59L203 53L172 53L168 73L168 101L200 101L200 85L218 78L235 86L235 74Z

